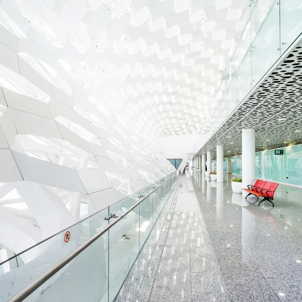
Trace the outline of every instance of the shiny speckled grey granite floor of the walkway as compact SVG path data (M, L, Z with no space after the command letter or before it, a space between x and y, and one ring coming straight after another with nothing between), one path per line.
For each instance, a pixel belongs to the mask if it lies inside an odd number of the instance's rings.
M279 186L275 207L257 206L230 176L182 177L116 301L302 301L300 196Z

